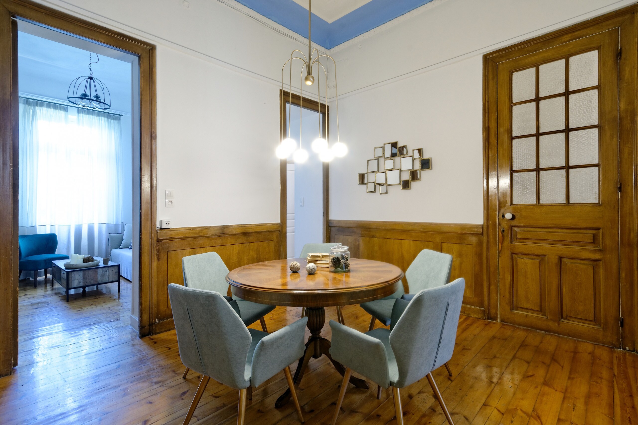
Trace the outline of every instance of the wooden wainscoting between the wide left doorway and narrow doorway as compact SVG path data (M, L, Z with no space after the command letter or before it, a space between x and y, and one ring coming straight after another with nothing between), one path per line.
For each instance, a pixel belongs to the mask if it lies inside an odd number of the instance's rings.
M279 223L158 230L153 333L173 329L168 284L184 284L182 258L215 251L229 270L279 258Z

